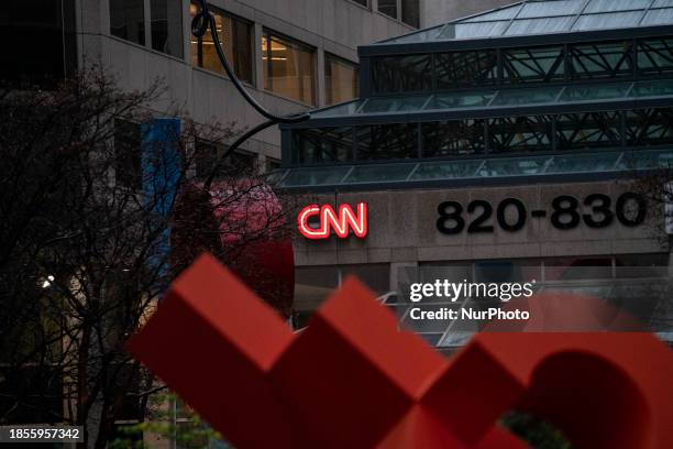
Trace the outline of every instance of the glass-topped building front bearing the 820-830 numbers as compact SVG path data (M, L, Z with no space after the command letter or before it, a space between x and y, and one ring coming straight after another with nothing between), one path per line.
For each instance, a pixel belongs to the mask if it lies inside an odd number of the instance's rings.
M529 0L360 47L361 97L282 127L280 188L367 207L366 237L298 239L298 325L356 274L448 351L482 324L415 319L412 284L584 294L670 339L664 205L644 185L673 164L672 23L663 0ZM470 306L505 305L422 303Z

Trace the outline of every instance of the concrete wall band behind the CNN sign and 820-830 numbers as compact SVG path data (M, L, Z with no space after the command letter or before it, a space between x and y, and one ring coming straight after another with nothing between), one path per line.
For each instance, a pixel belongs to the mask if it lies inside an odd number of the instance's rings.
M332 194L307 198L318 204L368 204L369 231L365 239L353 236L345 240L330 238L310 241L299 236L296 243L298 265L332 265L357 263L416 263L429 261L468 261L486 259L549 258L572 255L608 255L655 253L668 251L661 239L661 213L649 206L646 221L633 228L617 219L603 229L592 229L581 222L575 229L560 230L551 225L552 200L560 195L574 196L580 205L589 194L605 194L613 200L628 191L626 183L581 183L561 185L522 185L432 190L389 190ZM505 198L518 198L527 208L526 226L507 232L495 222L497 205ZM492 233L467 233L466 228L453 236L437 229L438 206L453 200L463 208L468 223L467 205L483 199L494 207L489 220ZM307 202L308 204L308 202ZM532 210L547 210L545 218L532 218ZM587 213L580 206L581 213ZM509 213L514 213L511 208ZM596 216L600 219L600 216ZM515 218L508 216L509 222Z

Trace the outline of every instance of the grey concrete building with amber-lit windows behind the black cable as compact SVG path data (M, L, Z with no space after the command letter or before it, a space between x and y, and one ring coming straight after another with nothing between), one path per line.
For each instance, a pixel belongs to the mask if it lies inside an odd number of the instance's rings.
M218 34L238 77L271 111L286 114L352 99L358 94L356 48L419 26L419 0L214 0ZM191 35L197 7L187 0L8 1L0 7L12 48L2 79L46 84L102 64L120 86L142 90L161 78L157 116L181 108L197 123L252 128L261 117L227 78L209 34ZM40 53L41 57L36 57ZM33 54L35 57L26 57ZM224 143L212 145L214 153ZM240 158L279 165L277 129L246 142Z

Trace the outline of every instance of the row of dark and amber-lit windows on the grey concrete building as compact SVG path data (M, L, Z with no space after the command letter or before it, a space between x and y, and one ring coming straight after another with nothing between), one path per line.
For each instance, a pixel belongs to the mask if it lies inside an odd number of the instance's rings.
M166 54L183 57L183 25L180 0L150 0L150 20L144 17L146 0L110 0L110 33L126 41ZM190 4L190 14L198 11ZM253 23L210 7L216 31L224 54L236 76L254 84L255 44ZM145 26L150 26L151 43L145 42ZM316 106L316 48L265 30L261 42L264 89L284 97ZM224 74L210 32L202 37L191 36L191 64ZM326 102L346 101L358 95L358 67L339 56L324 54Z

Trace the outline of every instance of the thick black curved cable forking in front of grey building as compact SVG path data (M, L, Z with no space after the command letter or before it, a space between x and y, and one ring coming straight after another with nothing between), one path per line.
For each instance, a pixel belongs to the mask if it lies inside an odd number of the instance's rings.
M199 11L191 20L191 34L194 34L198 39L201 39L210 28L210 35L214 44L216 53L218 54L220 63L224 67L224 72L227 72L229 79L233 83L234 87L239 90L243 98L245 98L245 101L247 101L257 112L260 112L260 114L267 119L265 122L262 122L256 127L250 129L239 139L236 139L236 141L229 149L227 149L227 151L218 158L214 166L212 167L212 171L210 172L210 175L206 179L206 183L203 183L203 188L206 190L210 190L210 186L214 177L217 176L219 167L223 164L224 160L230 154L232 154L239 146L241 146L243 142L245 142L247 139L252 138L260 131L273 127L274 124L298 123L308 120L310 118L310 114L308 112L300 112L289 116L275 116L262 105L260 105L260 102L257 102L257 100L255 100L245 89L239 77L236 77L236 74L231 68L229 59L227 59L227 55L224 54L222 45L220 44L214 15L212 15L210 11L208 11L208 3L206 2L206 0L197 0L197 2L199 4Z

